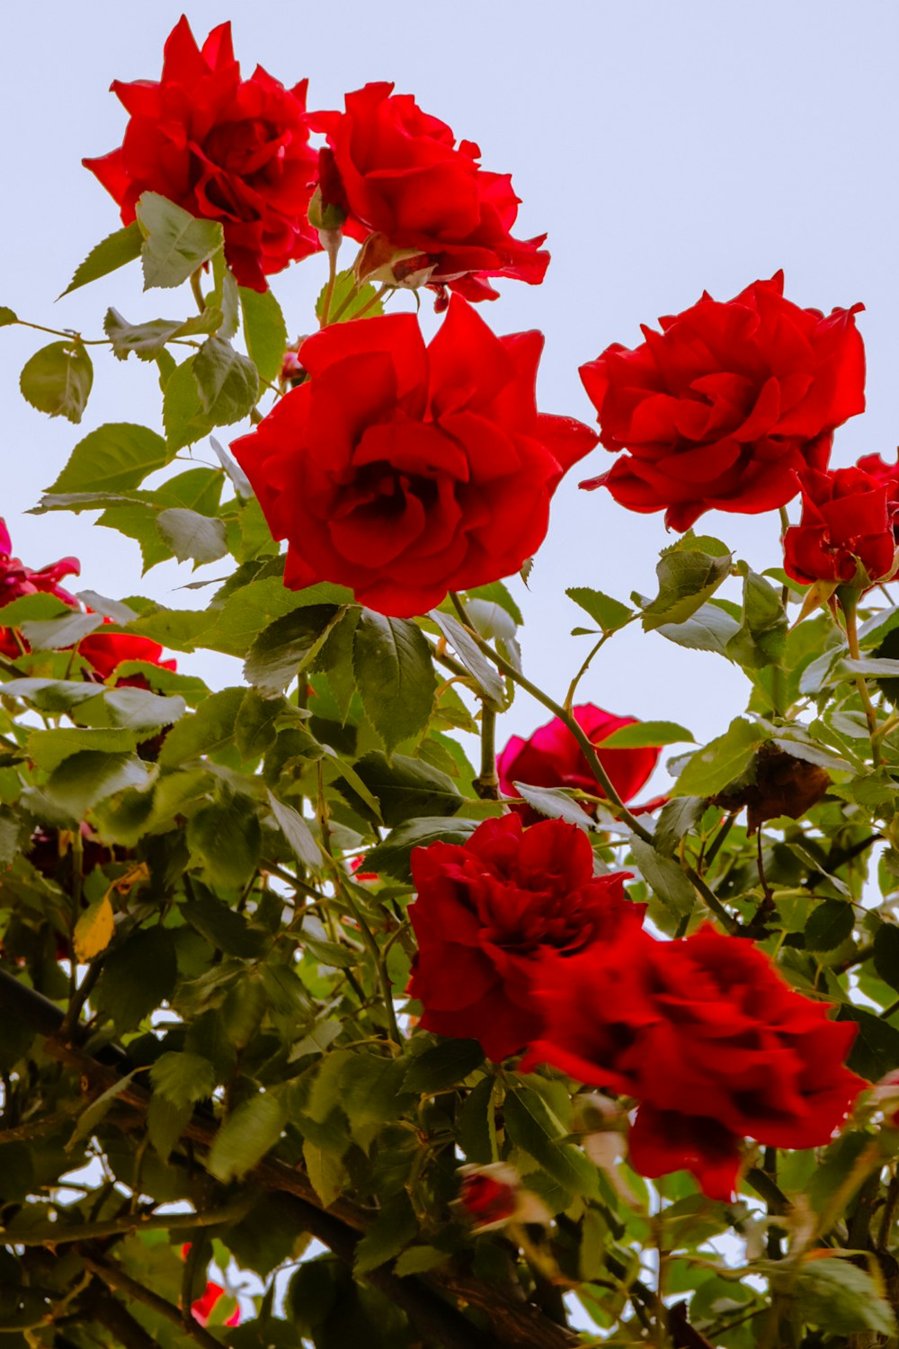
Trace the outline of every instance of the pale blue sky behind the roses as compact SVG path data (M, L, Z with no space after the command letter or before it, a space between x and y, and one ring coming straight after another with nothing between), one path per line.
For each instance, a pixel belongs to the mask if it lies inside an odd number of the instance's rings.
M23 317L98 336L109 304L133 320L189 312L187 291L143 295L137 268L54 305L74 266L117 224L115 204L80 165L121 140L124 111L109 82L158 78L163 40L181 12L170 0L7 8L0 304ZM798 304L867 306L859 325L868 413L837 433L834 463L871 451L892 455L899 9L891 0L255 0L230 13L224 0L201 0L186 12L199 39L232 18L245 70L259 61L286 84L309 76L313 107L336 107L367 80L395 80L457 135L477 140L485 167L512 173L523 198L519 232L547 229L553 264L542 287L501 283L503 298L481 312L499 332L546 333L546 411L592 421L580 363L609 341L631 345L640 321L685 308L704 287L728 298L783 266L787 295ZM274 278L291 332L309 326L322 275L315 259ZM97 363L82 426L47 421L18 393L19 368L40 343L22 329L0 332L0 513L18 552L34 565L77 553L85 588L205 603L209 592L173 594L190 579L174 564L142 581L136 545L93 529L90 515L20 515L81 434L104 421L156 425L159 417L151 370L106 357ZM559 490L527 598L527 668L555 692L582 653L567 638L578 611L565 585L597 585L620 598L633 587L651 592L666 542L659 515L632 515L604 492L577 491L577 476L608 463L597 451ZM778 561L772 517L709 515L702 527L759 565ZM210 664L210 677L230 677L226 666L224 658ZM612 711L683 722L702 739L741 708L743 687L716 657L628 633L597 661L582 692ZM500 737L542 719L516 703Z

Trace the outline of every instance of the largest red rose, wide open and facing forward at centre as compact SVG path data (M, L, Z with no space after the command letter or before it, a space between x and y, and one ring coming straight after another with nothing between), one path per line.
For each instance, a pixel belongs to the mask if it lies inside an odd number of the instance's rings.
M337 581L410 616L518 571L594 444L581 422L538 413L542 347L536 332L496 337L458 297L427 348L412 314L309 337L309 379L232 445L288 542L286 584Z

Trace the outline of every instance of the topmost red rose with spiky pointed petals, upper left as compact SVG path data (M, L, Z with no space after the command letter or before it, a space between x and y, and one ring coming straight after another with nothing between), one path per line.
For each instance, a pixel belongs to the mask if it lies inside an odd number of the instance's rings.
M166 42L162 80L116 80L112 89L129 113L124 142L84 163L119 202L124 224L144 192L221 221L228 263L253 290L318 250L306 219L317 166L306 81L284 89L261 66L241 80L230 24L213 28L198 49L182 18Z

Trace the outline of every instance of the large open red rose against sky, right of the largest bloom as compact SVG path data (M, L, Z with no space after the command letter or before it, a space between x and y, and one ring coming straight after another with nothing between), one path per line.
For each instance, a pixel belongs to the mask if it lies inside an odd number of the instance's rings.
M783 298L783 272L735 299L704 294L682 314L581 366L607 449L627 451L582 487L685 530L713 507L753 514L826 468L833 430L864 411L865 362L852 309L825 318Z

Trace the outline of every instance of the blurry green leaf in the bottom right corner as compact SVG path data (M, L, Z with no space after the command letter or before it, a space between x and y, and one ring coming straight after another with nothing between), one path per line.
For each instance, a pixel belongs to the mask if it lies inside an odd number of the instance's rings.
M890 1303L867 1269L837 1256L809 1260L790 1275L794 1321L811 1322L828 1336L856 1336L873 1330L892 1338L896 1322ZM865 1337L867 1340L867 1337Z

